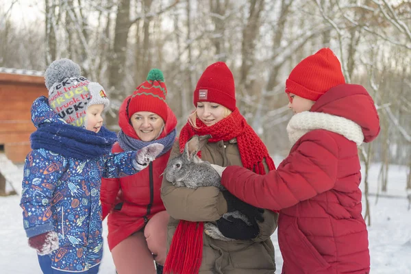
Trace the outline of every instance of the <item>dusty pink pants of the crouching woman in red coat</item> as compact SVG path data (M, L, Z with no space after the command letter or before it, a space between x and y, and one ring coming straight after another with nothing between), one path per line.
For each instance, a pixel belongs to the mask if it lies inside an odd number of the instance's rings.
M112 249L112 257L119 274L155 274L154 262L166 261L166 233L169 214L155 214L144 231L136 232Z

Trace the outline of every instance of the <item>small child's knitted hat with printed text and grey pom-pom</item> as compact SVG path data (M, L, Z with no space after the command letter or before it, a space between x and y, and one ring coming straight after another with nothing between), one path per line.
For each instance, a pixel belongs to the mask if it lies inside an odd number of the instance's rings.
M79 65L66 58L50 64L45 72L45 84L50 108L75 127L84 127L88 106L110 104L104 88L81 76Z

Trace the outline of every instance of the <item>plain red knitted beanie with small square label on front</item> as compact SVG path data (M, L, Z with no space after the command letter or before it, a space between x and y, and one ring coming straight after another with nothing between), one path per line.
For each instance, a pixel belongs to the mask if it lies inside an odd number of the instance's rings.
M219 103L232 111L236 109L234 77L224 62L211 64L203 72L194 91L195 107L198 101Z

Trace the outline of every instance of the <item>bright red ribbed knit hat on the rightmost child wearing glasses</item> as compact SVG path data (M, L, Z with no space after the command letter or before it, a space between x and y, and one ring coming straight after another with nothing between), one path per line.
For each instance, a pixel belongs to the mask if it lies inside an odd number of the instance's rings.
M295 66L286 80L286 92L316 101L340 84L345 84L340 61L331 49L323 48Z

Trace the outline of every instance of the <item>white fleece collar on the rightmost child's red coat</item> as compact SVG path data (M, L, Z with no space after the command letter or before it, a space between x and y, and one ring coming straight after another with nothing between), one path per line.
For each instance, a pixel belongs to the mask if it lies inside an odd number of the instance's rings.
M325 129L343 135L348 140L356 142L357 146L364 141L364 134L357 123L340 116L307 111L292 116L287 125L291 145L294 145L301 136L314 129Z

